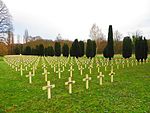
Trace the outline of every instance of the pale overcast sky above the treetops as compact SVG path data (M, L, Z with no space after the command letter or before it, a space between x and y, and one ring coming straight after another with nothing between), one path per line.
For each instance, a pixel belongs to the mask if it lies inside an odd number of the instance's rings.
M108 26L124 36L141 30L150 37L150 0L3 0L13 16L15 35L84 40L96 23L107 37Z

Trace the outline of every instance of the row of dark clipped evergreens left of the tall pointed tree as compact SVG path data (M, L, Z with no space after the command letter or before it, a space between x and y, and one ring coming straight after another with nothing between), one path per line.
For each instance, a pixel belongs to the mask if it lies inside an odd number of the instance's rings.
M20 51L20 47L16 46L14 49L15 54L23 55L38 55L38 56L61 56L64 57L83 57L86 55L88 58L95 57L96 55L96 42L88 39L87 43L83 41L78 41L75 39L71 45L68 46L67 43L64 43L61 46L59 41L56 41L54 46L44 47L43 44L36 45L35 47L26 46Z

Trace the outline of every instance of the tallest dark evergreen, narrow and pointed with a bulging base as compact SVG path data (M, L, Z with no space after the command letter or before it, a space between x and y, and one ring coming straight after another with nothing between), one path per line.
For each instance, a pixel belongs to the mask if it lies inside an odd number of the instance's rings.
M105 58L113 58L114 56L114 43L113 43L113 30L112 30L112 25L109 25L109 30L108 30L108 42L106 47L104 48L103 51L103 56Z

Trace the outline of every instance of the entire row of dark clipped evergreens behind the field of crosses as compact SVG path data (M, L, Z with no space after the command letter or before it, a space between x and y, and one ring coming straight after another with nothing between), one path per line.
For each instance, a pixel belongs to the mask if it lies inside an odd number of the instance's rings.
M135 58L138 61L147 59L148 56L148 43L145 37L136 36L132 40L129 36L124 37L122 42L122 56L123 58L130 58L135 53ZM72 56L82 57L86 55L87 58L93 58L97 54L97 44L95 40L88 39L87 42L78 41L75 39L71 46L67 43L61 45L59 41L55 41L53 46L44 47L43 44L36 45L35 47L26 46L22 52L19 47L15 48L15 54L24 55L39 55L39 56ZM108 41L103 49L103 56L111 60L114 57L114 40L112 25L108 29Z

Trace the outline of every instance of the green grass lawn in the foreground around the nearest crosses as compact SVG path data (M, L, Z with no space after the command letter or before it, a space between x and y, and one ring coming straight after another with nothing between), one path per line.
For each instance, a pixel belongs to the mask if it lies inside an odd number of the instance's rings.
M77 65L74 65L75 84L71 95L68 86L65 86L69 66L61 79L49 66L48 79L55 84L50 100L47 99L47 90L42 90L46 82L41 64L40 60L33 83L29 84L25 77L28 72L20 76L20 72L0 57L0 113L150 113L150 63L114 69L116 75L113 83L110 83L109 72L101 68L105 75L102 86L97 79L97 69L93 68L88 90L83 78L89 70L85 69L81 76Z

